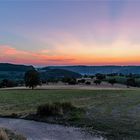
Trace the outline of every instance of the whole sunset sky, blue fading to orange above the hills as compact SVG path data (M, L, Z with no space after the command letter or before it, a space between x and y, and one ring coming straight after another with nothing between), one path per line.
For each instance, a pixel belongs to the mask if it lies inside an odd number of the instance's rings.
M0 63L140 65L140 0L0 0Z

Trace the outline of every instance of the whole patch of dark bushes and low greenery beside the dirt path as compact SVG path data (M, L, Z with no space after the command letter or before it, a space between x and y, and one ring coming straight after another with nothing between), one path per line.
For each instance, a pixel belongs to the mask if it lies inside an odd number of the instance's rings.
M54 102L38 106L37 112L30 114L27 118L51 123L79 125L83 121L84 114L84 109L72 105L71 102Z

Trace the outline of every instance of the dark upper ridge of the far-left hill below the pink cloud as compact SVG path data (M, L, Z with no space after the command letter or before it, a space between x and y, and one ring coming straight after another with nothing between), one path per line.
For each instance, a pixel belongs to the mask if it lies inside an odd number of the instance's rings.
M16 65L9 63L0 63L0 71L18 71L25 72L34 69L33 66Z

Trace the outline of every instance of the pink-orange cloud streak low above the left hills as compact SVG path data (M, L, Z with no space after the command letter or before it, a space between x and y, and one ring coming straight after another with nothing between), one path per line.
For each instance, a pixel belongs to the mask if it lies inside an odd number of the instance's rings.
M34 65L57 65L73 63L74 59L62 55L47 55L48 50L39 52L18 50L10 45L0 45L0 62Z

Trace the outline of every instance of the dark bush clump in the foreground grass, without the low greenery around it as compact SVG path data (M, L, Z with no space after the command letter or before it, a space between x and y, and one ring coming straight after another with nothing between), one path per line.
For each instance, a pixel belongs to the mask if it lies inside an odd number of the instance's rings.
M37 115L39 116L58 116L72 111L75 107L70 102L55 102L53 104L47 103L40 105L37 108Z

